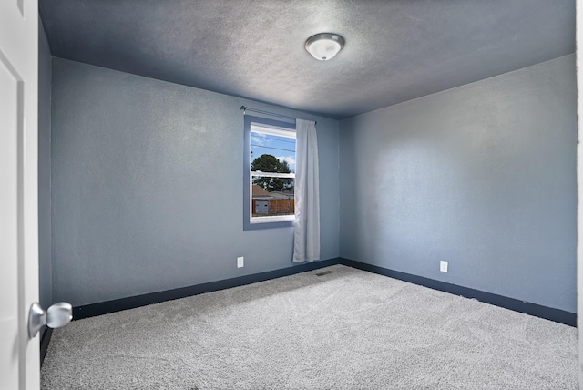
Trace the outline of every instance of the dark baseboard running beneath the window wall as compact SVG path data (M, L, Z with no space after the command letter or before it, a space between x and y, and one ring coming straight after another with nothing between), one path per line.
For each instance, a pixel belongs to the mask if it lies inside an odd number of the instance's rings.
M275 270L270 272L255 273L252 275L240 276L232 279L225 279L218 282L208 282L197 284L189 287L182 287L163 292L151 292L143 295L130 296L127 298L116 299L113 301L85 304L73 308L73 320L94 317L96 315L115 313L122 310L134 309L136 307L146 306L153 303L161 303L179 298L186 298L192 295L199 295L205 292L215 292L232 287L239 287L246 284L264 282L271 279L291 276L296 273L317 270L340 262L339 258L322 260L320 262L308 262L294 265L289 268Z

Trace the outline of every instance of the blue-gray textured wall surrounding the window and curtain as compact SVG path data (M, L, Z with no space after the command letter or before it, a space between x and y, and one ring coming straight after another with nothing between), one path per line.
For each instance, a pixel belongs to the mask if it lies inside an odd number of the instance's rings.
M292 267L292 228L243 231L242 104L318 121L322 260L338 256L337 121L59 58L52 97L56 300Z

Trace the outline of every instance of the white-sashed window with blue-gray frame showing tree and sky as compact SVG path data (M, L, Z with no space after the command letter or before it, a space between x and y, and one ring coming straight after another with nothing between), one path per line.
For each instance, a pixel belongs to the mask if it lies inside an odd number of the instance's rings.
M292 226L295 124L245 116L245 230Z

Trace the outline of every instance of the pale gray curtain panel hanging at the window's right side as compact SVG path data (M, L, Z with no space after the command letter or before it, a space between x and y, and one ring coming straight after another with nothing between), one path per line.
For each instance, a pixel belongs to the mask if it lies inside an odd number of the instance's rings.
M320 260L318 139L312 120L296 119L293 262Z

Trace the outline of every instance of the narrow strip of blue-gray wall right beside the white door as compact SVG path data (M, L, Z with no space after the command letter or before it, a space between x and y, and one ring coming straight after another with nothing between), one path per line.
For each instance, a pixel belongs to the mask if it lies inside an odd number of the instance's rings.
M51 52L38 19L38 287L45 309L53 303L51 270Z

